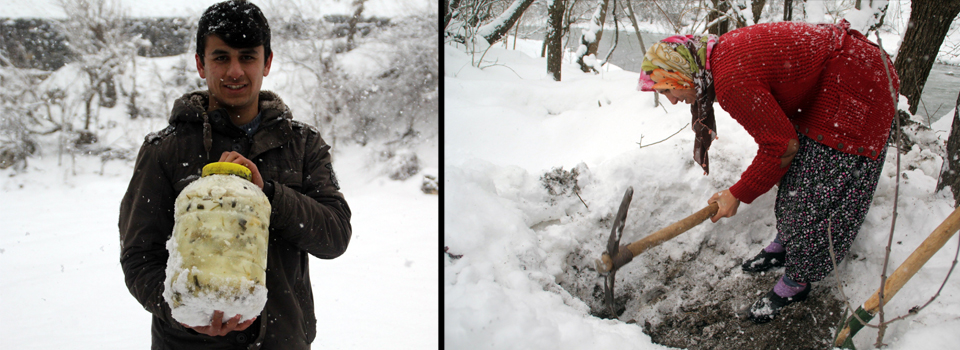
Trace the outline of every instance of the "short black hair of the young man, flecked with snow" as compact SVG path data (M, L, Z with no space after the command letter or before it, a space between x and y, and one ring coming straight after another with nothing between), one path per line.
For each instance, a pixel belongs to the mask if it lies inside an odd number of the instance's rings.
M214 4L200 16L197 26L197 55L203 62L207 37L216 35L233 48L263 45L263 59L270 57L270 25L257 5L246 0L228 0Z

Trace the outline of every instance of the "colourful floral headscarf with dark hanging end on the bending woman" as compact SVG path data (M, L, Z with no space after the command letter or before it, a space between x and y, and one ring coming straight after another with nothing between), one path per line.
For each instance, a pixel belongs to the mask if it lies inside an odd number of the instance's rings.
M653 44L643 57L637 90L697 89L697 101L690 107L691 125L696 134L693 160L710 173L707 150L717 138L713 116L713 73L710 54L717 44L716 35L675 35Z

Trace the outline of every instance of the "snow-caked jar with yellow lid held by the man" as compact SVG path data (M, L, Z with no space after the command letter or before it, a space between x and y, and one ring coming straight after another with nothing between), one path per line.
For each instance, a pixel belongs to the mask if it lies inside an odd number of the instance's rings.
M241 322L267 302L270 202L246 167L216 162L177 196L163 298L173 318L208 326L214 311Z

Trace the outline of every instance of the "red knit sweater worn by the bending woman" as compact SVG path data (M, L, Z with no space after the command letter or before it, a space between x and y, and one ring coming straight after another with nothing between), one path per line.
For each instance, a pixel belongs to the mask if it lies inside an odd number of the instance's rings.
M780 157L798 133L872 159L885 147L896 105L879 49L857 31L758 24L721 36L710 64L717 102L759 145L730 188L744 203L787 172ZM899 91L892 62L889 68Z

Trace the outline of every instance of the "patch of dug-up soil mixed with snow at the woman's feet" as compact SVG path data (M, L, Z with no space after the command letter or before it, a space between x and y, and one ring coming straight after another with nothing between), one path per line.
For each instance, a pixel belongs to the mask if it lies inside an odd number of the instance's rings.
M842 312L834 276L815 283L810 297L785 307L766 324L747 310L783 274L743 272L748 256L731 256L705 241L679 258L653 248L617 271L614 307L621 321L636 323L653 342L684 349L830 348ZM603 300L603 278L594 268L602 251L578 249L560 285L599 318L613 318Z

